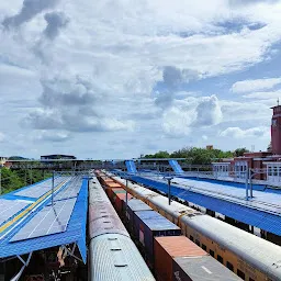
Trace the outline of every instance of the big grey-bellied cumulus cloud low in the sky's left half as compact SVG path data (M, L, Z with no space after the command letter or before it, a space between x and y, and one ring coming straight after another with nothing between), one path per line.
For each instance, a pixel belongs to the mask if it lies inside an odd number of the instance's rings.
M42 108L32 111L24 121L36 130L64 130L66 132L132 131L134 122L121 121L99 111L105 97L94 92L89 81L76 78L42 81Z

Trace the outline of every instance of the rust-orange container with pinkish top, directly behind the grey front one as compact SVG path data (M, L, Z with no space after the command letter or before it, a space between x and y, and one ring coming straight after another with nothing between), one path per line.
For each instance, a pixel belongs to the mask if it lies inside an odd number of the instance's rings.
M172 280L172 259L178 257L202 257L209 254L186 236L155 237L154 266L157 280Z

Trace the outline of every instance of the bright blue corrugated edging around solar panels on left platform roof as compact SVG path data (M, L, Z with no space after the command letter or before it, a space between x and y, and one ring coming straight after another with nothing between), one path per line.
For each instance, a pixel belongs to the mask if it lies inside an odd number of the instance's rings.
M49 203L50 199L45 204ZM23 223L16 226L11 233L9 233L3 239L0 240L0 258L11 257L15 255L29 254L31 251L60 246L65 244L77 243L82 260L87 260L86 250L86 220L88 209L88 180L82 180L82 187L77 198L72 214L68 222L66 232L47 235L43 237L13 241L10 239L21 227L31 220L27 217Z

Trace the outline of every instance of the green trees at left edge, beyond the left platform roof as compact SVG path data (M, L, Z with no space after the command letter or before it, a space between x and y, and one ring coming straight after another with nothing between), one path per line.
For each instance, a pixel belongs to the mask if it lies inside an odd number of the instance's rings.
M1 193L8 193L22 187L38 182L43 179L52 177L52 173L43 170L10 170L7 168L0 169L1 177Z

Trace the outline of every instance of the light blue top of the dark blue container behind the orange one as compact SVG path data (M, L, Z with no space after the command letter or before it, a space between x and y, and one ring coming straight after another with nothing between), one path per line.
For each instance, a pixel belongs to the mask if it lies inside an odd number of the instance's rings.
M170 231L180 229L176 224L168 221L155 211L138 211L135 212L144 224L146 224L151 231Z

